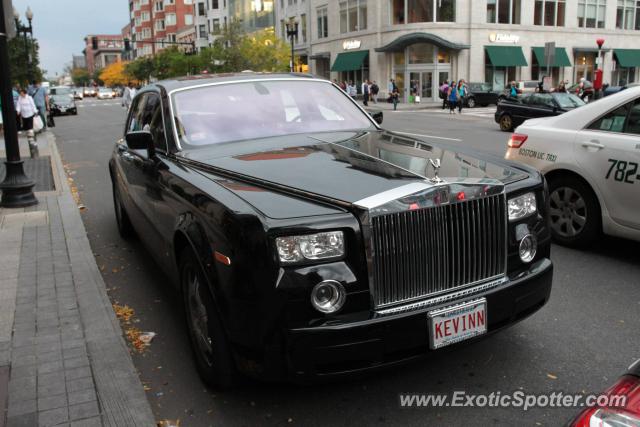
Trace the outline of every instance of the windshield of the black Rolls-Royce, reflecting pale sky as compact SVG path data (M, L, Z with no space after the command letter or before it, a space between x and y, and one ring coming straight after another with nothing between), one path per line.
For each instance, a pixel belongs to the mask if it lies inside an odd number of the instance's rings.
M375 128L333 85L262 80L180 91L173 96L180 142L202 146L307 132Z

